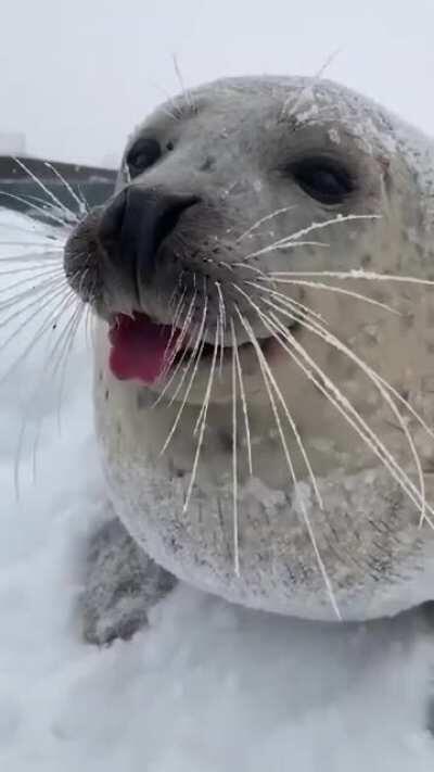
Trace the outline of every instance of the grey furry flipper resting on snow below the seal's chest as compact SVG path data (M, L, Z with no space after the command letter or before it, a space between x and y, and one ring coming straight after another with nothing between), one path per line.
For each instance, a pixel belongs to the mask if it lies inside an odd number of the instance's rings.
M103 645L130 638L175 584L175 577L148 557L119 520L104 522L89 544L79 599L85 641Z

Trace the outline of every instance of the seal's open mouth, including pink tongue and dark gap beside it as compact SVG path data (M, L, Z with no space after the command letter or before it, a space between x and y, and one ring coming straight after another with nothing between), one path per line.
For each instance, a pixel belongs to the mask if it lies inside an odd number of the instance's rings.
M110 368L118 380L138 380L152 384L177 365L191 346L186 340L180 344L181 330L171 325L161 325L148 314L133 316L117 314L111 325ZM263 351L268 338L259 340ZM252 349L252 343L241 343L239 350ZM232 347L224 349L224 359L230 357ZM214 354L214 345L204 343L201 359L207 360Z

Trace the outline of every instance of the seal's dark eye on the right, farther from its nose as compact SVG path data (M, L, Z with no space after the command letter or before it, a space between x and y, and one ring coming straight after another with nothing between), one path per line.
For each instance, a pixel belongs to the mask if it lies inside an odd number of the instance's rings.
M355 188L352 175L334 159L304 159L290 170L305 193L322 204L341 204Z

